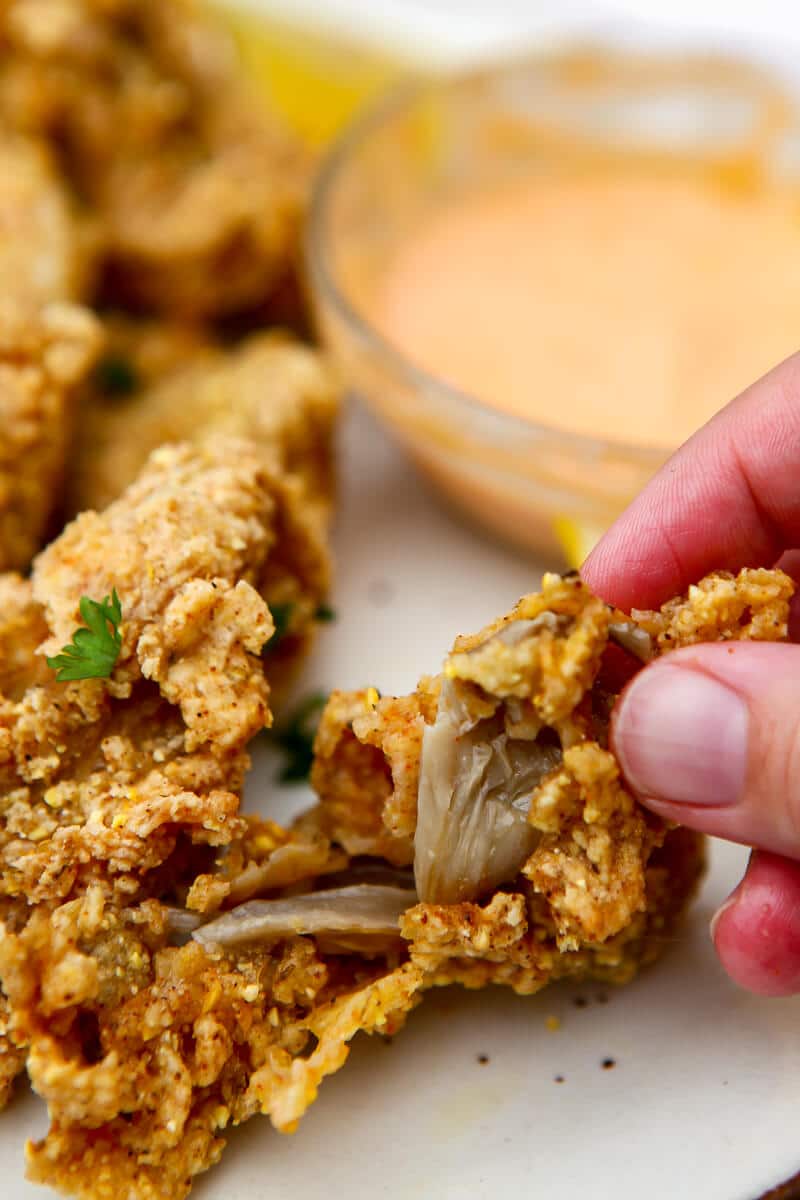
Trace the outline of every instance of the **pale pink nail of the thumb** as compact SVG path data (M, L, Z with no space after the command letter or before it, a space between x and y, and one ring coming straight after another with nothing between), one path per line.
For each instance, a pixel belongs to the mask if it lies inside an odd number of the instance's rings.
M614 749L640 796L673 804L735 804L747 768L747 706L699 671L649 667L625 692Z

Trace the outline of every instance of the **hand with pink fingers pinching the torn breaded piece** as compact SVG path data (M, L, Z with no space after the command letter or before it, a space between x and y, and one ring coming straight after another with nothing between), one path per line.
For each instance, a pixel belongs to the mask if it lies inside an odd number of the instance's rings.
M800 581L800 354L666 463L582 575L620 608L654 608L710 570L776 564ZM673 652L620 697L612 745L649 809L756 847L711 936L744 988L800 992L800 646Z

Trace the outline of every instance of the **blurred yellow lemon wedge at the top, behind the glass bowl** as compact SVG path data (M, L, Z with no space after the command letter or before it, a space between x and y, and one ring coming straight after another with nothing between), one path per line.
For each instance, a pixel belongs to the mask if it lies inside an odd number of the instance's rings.
M312 146L329 143L404 64L344 36L295 28L269 14L211 4L236 40L258 91Z

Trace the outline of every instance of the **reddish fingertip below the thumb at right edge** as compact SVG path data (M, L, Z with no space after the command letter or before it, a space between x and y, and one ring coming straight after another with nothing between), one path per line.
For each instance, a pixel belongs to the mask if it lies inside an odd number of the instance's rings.
M711 922L730 978L759 996L800 992L800 863L757 851Z

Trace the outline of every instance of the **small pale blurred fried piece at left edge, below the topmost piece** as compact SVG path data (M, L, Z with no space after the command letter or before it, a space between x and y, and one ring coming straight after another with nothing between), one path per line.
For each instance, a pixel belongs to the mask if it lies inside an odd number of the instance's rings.
M1 18L0 18L1 19ZM0 134L5 120L0 115ZM0 136L0 280L10 298L36 310L79 300L88 286L88 238L43 145Z

